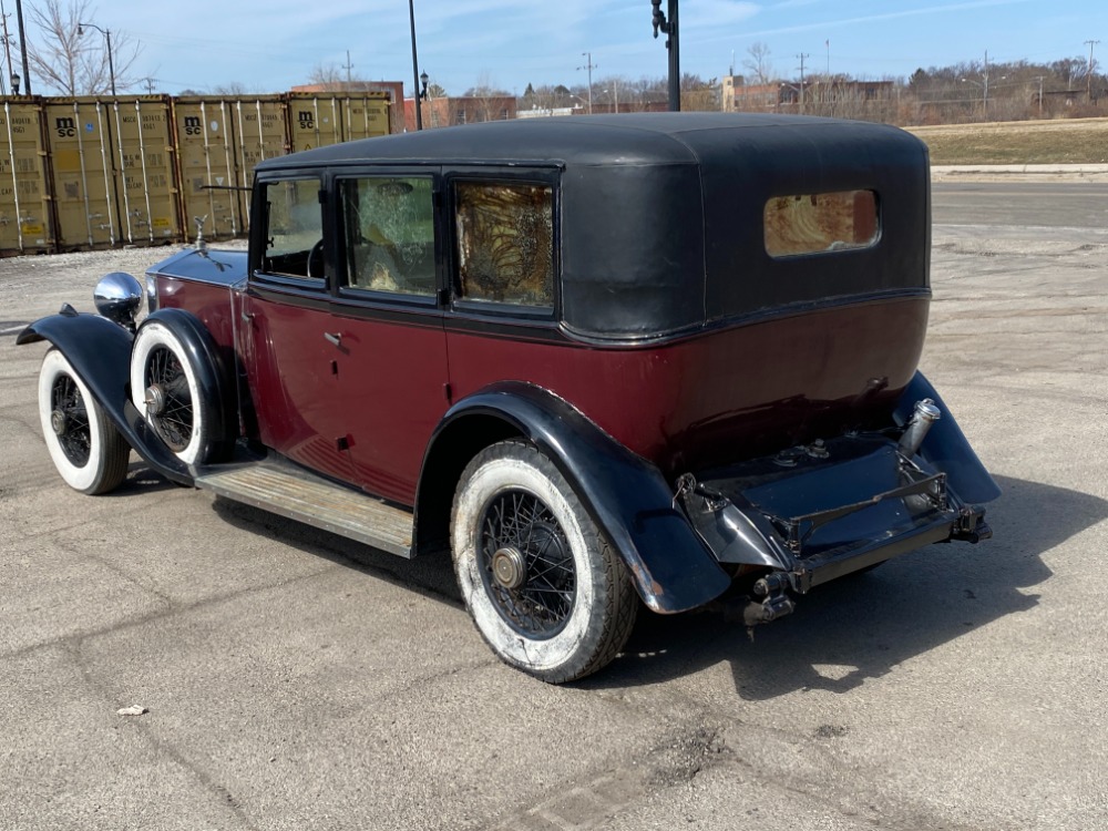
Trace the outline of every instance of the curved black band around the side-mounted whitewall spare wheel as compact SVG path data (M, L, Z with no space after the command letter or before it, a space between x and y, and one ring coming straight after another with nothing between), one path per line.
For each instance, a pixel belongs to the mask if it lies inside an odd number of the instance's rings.
M153 320L158 320L173 330L185 348L189 362L196 371L196 383L201 397L209 404L212 431L208 463L224 461L237 439L237 411L232 373L224 366L219 348L207 327L192 312L184 309L158 309L143 320L138 331ZM137 332L135 334L137 337Z

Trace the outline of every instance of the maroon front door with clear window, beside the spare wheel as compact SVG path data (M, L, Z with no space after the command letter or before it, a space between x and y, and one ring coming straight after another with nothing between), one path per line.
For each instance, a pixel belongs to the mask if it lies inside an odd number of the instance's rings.
M270 173L254 206L243 350L261 442L312 470L356 481L338 375L341 337L331 319L334 244L324 179Z

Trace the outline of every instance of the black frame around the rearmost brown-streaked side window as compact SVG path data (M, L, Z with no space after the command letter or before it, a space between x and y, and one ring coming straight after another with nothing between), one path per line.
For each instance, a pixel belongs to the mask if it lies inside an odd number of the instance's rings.
M444 209L443 216L448 245L445 266L447 288L450 309L458 316L475 318L514 318L521 321L557 321L562 318L562 212L561 212L561 170L555 166L534 167L501 167L451 168L444 172ZM461 276L459 274L459 244L455 205L458 204L458 183L478 182L482 184L502 185L537 185L551 191L551 268L552 268L552 305L525 306L523 304L497 300L469 300L460 296Z

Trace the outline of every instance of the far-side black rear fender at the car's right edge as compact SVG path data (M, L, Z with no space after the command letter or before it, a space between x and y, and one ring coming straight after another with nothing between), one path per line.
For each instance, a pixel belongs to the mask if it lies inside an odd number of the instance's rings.
M912 418L915 402L924 398L934 401L943 414L927 431L923 444L920 445L920 455L936 470L946 473L947 484L964 503L981 505L995 500L1001 495L999 485L993 481L985 465L970 447L962 428L954 419L954 413L922 372L916 372L901 393L893 413L896 423L906 424Z

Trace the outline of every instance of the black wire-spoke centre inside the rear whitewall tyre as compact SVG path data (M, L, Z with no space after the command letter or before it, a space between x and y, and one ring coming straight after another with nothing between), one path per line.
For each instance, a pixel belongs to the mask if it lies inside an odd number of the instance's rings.
M563 629L577 573L565 532L534 494L512 490L485 510L481 574L497 612L516 632L548 638Z

